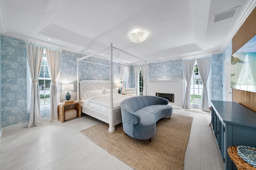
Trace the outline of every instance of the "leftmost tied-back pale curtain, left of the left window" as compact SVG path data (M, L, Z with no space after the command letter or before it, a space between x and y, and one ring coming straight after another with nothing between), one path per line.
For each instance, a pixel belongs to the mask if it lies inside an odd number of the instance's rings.
M44 53L44 48L35 45L26 44L28 66L31 76L31 99L30 99L30 117L28 128L33 124L36 126L42 125L41 109L40 109L40 94L38 78L41 69L41 63Z

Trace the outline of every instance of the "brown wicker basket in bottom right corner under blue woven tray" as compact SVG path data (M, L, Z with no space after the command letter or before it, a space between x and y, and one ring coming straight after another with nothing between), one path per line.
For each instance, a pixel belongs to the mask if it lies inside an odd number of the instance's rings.
M228 148L228 155L231 158L231 160L236 165L236 168L238 170L256 170L253 166L242 160L240 156L237 154L237 147L229 147Z

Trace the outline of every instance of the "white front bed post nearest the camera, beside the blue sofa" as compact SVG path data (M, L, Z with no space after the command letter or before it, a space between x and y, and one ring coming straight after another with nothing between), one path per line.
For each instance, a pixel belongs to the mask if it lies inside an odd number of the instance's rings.
M113 133L114 126L114 109L113 109L113 44L110 44L110 116L108 132Z

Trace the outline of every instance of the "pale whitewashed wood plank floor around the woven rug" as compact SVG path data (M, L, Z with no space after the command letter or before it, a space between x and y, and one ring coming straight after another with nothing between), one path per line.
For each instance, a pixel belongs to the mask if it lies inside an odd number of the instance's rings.
M211 116L174 109L194 117L185 156L184 170L224 170L220 151L209 123ZM4 133L0 150L1 170L131 170L79 131L100 123L82 114L60 123L43 123Z

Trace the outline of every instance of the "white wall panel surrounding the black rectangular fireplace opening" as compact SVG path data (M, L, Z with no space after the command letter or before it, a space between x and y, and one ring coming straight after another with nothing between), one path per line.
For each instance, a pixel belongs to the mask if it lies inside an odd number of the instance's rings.
M182 107L183 104L183 80L151 80L148 81L148 95L156 96L158 93L173 93L174 103L173 106Z

